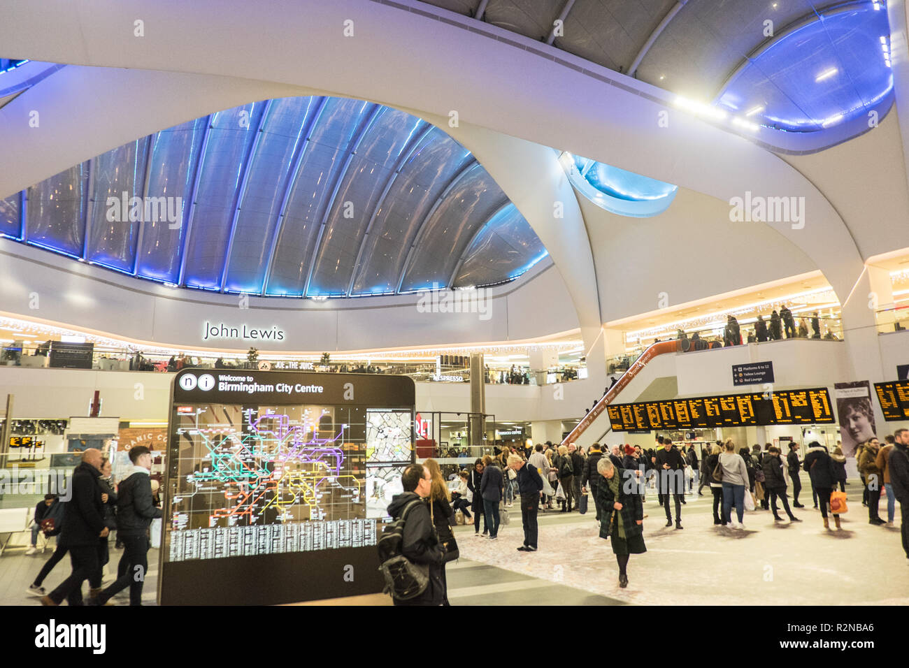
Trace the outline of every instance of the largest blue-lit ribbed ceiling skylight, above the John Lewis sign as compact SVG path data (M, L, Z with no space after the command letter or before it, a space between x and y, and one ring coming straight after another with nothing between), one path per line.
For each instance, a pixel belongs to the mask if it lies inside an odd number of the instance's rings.
M333 97L263 100L118 146L0 201L0 234L159 283L264 296L499 284L545 256L445 132Z

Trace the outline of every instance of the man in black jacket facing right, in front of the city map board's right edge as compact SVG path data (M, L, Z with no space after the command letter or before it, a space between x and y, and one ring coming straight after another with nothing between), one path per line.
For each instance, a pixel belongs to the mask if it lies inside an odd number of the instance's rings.
M386 512L397 520L412 501L422 501L407 513L401 537L401 553L411 562L423 563L429 567L429 583L425 591L406 601L395 599L395 605L442 605L445 602L445 580L442 577L445 552L435 533L429 506L425 503L432 484L433 476L429 469L423 464L411 464L401 476L404 494L395 494L392 503L388 504ZM523 494L521 500L524 500Z

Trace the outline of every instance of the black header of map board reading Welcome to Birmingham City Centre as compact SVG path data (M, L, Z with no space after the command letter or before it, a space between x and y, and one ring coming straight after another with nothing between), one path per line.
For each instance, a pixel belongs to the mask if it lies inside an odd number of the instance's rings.
M176 374L175 404L300 404L412 406L412 378L384 374L184 369Z

